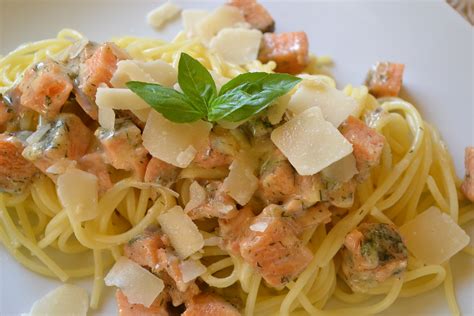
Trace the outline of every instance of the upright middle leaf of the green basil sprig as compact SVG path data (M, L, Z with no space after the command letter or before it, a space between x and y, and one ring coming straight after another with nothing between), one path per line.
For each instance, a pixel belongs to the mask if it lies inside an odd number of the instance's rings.
M178 83L194 106L205 110L217 96L217 88L209 71L196 59L181 53L178 65Z

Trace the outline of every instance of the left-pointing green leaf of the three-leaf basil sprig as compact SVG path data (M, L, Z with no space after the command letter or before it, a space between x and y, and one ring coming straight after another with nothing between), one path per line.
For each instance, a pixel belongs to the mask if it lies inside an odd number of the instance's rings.
M159 84L129 81L127 87L151 107L176 123L188 123L206 117L206 109L199 109L182 93Z

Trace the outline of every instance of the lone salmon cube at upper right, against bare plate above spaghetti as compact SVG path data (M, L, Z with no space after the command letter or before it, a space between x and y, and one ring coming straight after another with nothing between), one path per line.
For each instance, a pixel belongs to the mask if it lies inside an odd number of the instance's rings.
M377 63L367 75L369 92L377 98L396 97L402 87L404 64Z

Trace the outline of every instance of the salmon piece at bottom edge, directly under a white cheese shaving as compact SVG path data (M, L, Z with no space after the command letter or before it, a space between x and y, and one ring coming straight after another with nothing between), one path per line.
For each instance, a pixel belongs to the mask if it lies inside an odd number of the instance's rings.
M166 293L162 292L150 307L145 307L142 304L129 303L125 294L121 290L117 290L115 299L118 314L119 316L168 316L167 296Z

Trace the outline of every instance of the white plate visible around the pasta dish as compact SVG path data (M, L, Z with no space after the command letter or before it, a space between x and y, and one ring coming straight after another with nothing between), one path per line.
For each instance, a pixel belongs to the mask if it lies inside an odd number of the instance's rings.
M183 7L212 8L224 1L176 1ZM138 0L0 0L0 54L26 42L52 37L64 27L90 39L117 35L158 36L145 22L159 1ZM474 144L472 27L442 1L270 1L264 2L278 31L305 30L311 50L335 60L334 76L343 87L361 84L378 60L406 64L403 96L440 129L463 172L463 149ZM172 38L179 21L160 37ZM472 234L471 234L472 236ZM27 312L33 301L59 282L35 275L0 250L0 314ZM459 304L464 315L474 314L474 260L464 254L454 260ZM90 280L80 282L90 287ZM114 315L111 296L101 315ZM447 315L443 289L421 297L399 299L384 314Z

